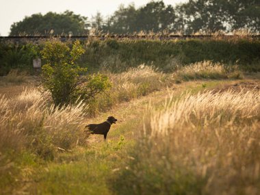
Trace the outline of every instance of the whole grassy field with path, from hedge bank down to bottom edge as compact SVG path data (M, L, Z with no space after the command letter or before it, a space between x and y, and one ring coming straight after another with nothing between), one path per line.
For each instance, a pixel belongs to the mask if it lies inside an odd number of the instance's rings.
M55 109L36 78L0 87L1 194L258 194L260 75L210 61L107 73L96 101ZM107 142L84 126L118 118Z

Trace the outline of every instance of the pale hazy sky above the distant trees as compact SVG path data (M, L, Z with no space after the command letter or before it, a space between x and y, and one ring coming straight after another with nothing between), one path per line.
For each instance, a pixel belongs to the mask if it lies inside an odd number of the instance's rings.
M138 8L150 0L0 0L0 35L8 36L13 23L22 21L25 16L47 12L64 12L70 10L82 16L94 16L101 12L103 16L111 15L120 4L135 3ZM176 5L187 0L164 0L164 3Z

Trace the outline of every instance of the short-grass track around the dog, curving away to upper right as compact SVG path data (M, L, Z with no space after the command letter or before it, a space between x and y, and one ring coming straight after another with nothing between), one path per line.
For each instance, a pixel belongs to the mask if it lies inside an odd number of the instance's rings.
M149 103L153 105L159 105L164 103L168 94L180 94L184 90L203 90L203 81L186 82L181 85L172 85L171 88L160 90L148 94L147 96L142 96L139 99L133 99L129 102L120 103L109 112L105 112L97 116L96 118L86 119L88 123L99 123L106 120L108 116L114 116L118 119L117 124L112 125L108 135L107 140L116 140L123 135L127 139L135 139L135 132L139 128L142 128L141 122L143 116L146 114L146 107ZM209 86L215 86L216 81L208 81ZM126 128L127 127L127 128ZM129 128L131 127L131 128ZM90 135L88 140L91 144L96 142L103 142L103 135Z

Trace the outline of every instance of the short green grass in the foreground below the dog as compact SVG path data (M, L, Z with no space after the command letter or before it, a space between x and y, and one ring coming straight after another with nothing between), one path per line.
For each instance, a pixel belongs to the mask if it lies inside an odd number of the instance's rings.
M108 194L106 179L120 164L114 157L119 152L116 142L102 143L99 150L90 148L73 158L62 157L61 163L50 163L36 172L31 194ZM68 161L70 159L70 161ZM59 160L59 159L58 159ZM40 194L39 193L39 194Z

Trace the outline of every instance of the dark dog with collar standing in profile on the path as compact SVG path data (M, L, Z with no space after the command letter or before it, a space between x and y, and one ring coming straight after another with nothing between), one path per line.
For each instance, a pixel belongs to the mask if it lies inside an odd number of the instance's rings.
M114 116L109 116L105 122L100 124L90 124L86 127L90 131L91 134L100 134L104 135L104 140L107 139L107 133L113 123L116 124L117 119Z

